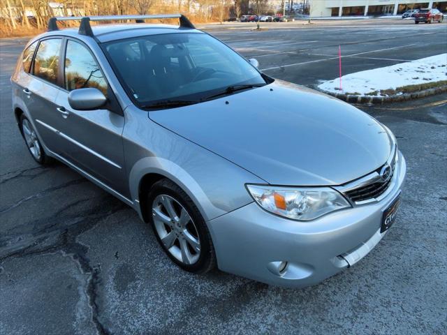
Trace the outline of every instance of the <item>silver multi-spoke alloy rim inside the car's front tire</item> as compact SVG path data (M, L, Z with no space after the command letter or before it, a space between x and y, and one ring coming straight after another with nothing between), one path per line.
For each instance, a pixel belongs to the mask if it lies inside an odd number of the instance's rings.
M182 204L169 195L157 195L152 202L152 218L161 243L173 257L184 265L193 265L198 261L198 230Z

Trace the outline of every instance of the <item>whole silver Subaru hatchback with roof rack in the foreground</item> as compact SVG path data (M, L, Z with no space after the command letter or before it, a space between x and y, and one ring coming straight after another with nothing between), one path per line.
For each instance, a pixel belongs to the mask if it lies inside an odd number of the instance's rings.
M166 18L179 27L142 23ZM53 17L13 110L35 161L129 204L182 269L300 288L379 243L406 165L383 124L257 66L183 15Z

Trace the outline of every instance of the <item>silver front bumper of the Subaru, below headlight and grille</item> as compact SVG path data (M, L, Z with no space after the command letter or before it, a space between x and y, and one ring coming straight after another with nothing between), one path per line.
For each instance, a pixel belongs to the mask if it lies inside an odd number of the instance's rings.
M222 271L272 285L314 285L358 262L386 234L383 210L397 197L406 164L399 152L392 189L379 202L357 205L314 221L274 216L255 202L208 221ZM275 271L287 262L284 271Z

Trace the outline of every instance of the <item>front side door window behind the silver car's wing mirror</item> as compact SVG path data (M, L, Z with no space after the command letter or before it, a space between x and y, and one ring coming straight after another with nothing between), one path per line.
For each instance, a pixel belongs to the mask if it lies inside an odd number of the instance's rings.
M107 82L95 59L84 45L73 40L67 43L64 81L68 91L95 87L107 94Z

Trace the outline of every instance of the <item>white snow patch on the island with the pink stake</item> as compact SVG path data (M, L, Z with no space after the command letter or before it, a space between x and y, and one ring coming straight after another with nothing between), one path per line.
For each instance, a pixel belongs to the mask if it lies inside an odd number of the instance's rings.
M441 80L447 80L447 54L344 75L343 91L339 89L339 78L319 84L318 89L332 93L381 96L381 90Z

